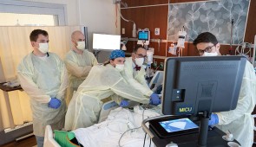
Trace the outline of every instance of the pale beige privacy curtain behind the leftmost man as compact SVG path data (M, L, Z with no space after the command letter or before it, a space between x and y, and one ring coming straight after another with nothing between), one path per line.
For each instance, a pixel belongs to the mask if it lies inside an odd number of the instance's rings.
M16 68L23 57L33 51L30 32L44 29L49 33L49 51L62 59L70 49L70 35L81 26L0 27L0 82L16 79ZM30 97L23 91L0 90L0 131L32 121Z

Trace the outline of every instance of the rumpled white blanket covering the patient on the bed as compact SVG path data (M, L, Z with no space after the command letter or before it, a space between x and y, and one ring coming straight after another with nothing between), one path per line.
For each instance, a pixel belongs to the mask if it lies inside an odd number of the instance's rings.
M140 106L135 106L134 112L119 107L111 111L104 122L73 132L84 147L118 147L120 138L121 147L141 147L145 137L145 132L141 128L142 118L159 115L156 111L143 110ZM140 128L130 130L138 127ZM147 135L145 146L149 145L149 139ZM151 146L154 147L153 142Z

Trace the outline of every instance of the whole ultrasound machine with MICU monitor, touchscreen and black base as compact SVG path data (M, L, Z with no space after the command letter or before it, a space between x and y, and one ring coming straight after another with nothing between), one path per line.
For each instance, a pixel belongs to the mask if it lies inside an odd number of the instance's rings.
M167 58L164 115L145 119L143 130L157 147L228 146L226 133L208 121L212 112L236 108L245 66L242 56ZM232 143L240 146L235 139Z

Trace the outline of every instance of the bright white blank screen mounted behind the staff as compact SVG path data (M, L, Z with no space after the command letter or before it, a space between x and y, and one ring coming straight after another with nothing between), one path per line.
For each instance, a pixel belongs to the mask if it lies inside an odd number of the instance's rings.
M94 49L120 49L121 35L93 35Z

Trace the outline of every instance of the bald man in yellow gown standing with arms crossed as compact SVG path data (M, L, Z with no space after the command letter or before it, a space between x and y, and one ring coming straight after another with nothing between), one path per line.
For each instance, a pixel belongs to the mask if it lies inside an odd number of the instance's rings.
M64 59L69 73L69 86L67 89L67 104L73 96L74 91L86 79L90 69L97 65L95 55L85 49L85 37L81 31L76 30L71 35L72 47Z

